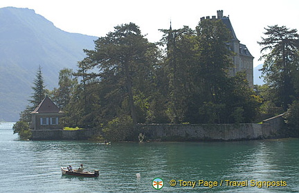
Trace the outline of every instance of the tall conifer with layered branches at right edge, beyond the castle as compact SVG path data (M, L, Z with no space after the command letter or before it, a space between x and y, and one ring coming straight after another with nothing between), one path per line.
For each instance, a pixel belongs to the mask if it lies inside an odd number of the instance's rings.
M262 75L269 88L275 93L273 101L278 107L287 110L288 105L296 98L294 73L298 72L299 40L296 29L289 30L286 26L268 26L258 42L262 46L260 59L264 59Z

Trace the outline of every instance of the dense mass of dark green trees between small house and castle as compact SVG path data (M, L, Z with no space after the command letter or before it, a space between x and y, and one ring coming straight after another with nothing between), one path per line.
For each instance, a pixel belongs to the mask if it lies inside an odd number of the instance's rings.
M64 108L66 124L104 125L111 133L109 125L129 118L133 125L255 120L260 98L244 74L228 76L231 37L221 21L161 31L161 42L153 44L136 24L123 24L84 50L75 73L80 84Z

